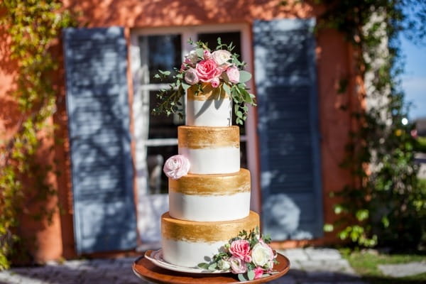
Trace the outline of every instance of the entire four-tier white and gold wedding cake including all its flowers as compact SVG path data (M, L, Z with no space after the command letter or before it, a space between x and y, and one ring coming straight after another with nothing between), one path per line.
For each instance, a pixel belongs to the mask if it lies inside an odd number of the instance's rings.
M192 42L191 42L192 43ZM178 113L185 96L185 126L178 126L178 155L166 160L169 211L161 217L163 260L180 267L230 271L239 279L265 277L276 254L250 211L251 177L240 167L239 127L246 104L256 105L246 84L251 74L218 38L216 50L202 42L185 56L155 113ZM226 49L223 49L226 48ZM170 72L155 75L162 79Z

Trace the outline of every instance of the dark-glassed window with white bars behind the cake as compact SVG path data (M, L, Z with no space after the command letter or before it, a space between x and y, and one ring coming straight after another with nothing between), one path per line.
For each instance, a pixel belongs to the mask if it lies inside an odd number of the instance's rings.
M233 43L234 52L241 54L241 33L195 33L194 40L202 40L208 43L210 48L215 48L217 38L222 43ZM161 88L168 88L172 80L162 82L154 78L158 70L173 70L180 68L185 49L185 38L182 33L173 34L148 34L138 38L141 52L142 76L140 80L142 96L147 97L148 110L148 137L146 138L146 167L148 174L148 193L164 194L168 192L168 178L163 173L165 160L178 153L178 126L185 124L185 119L179 119L178 115L155 116L151 111L157 104L155 94ZM185 53L186 54L186 53ZM171 78L170 78L171 79ZM235 118L234 118L235 119ZM235 121L234 121L235 124ZM246 135L245 128L241 131L241 167L247 168L246 159Z

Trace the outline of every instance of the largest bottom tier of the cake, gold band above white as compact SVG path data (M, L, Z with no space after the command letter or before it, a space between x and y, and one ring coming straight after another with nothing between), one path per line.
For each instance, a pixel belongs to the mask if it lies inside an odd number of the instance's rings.
M195 267L208 262L240 231L251 231L256 226L260 227L259 215L253 211L246 218L224 222L185 221L166 212L161 217L163 258L176 266Z

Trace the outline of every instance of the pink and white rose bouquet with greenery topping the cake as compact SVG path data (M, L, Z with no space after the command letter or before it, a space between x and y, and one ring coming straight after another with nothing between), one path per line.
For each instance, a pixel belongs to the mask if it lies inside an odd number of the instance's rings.
M211 50L206 43L192 40L190 44L195 48L185 55L180 69L174 68L175 74L170 71L158 70L155 78L164 80L173 76L173 83L169 89L160 89L157 98L160 102L153 109L153 114L165 113L178 114L182 118L182 104L180 98L185 95L187 89L192 88L195 95L203 92L207 86L217 89L219 94L230 94L234 102L236 123L243 124L249 108L246 104L256 105L254 95L248 92L246 82L251 79L251 73L244 71L245 62L239 60L239 55L232 53L235 46L226 45L217 38L217 47ZM219 96L220 97L220 96Z

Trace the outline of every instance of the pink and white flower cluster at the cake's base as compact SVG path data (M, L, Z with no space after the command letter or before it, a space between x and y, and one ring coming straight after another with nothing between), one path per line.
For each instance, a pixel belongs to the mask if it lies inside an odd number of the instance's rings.
M271 246L271 238L259 234L259 229L241 231L230 239L209 263L198 266L209 271L230 271L237 274L240 281L248 281L269 276L273 273L277 254Z

